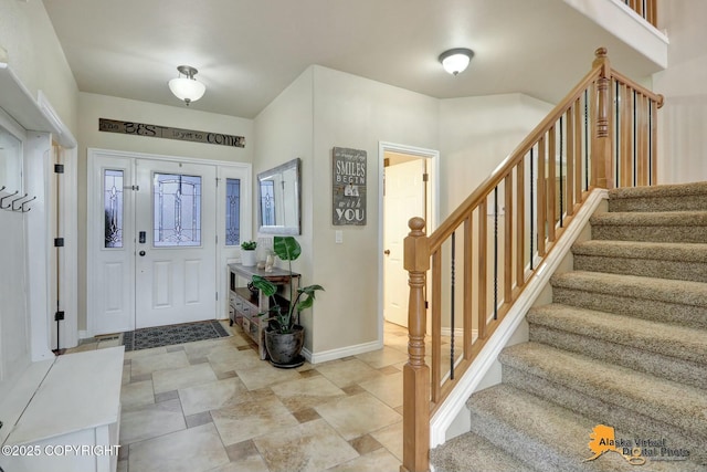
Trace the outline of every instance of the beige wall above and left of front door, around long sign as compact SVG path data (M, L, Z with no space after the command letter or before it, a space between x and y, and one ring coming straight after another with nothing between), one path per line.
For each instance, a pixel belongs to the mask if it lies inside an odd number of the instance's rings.
M146 153L163 156L251 162L253 120L199 112L187 106L166 106L125 98L81 93L78 96L78 329L86 328L86 156L88 148ZM98 130L98 118L147 123L184 129L244 136L245 147L120 135Z

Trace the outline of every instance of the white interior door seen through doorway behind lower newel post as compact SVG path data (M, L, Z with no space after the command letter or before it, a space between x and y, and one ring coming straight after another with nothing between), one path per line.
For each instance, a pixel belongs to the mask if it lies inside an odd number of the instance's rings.
M408 272L403 266L403 240L410 232L408 221L425 214L425 160L415 158L386 167L383 197L383 316L408 326Z

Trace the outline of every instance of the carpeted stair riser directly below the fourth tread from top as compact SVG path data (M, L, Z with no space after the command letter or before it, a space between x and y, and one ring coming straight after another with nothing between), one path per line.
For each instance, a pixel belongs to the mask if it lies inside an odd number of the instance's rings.
M618 313L625 316L703 329L707 328L707 307L704 306L591 292L591 287L587 287L587 291L580 291L556 286L552 289L552 300L555 303L587 310Z

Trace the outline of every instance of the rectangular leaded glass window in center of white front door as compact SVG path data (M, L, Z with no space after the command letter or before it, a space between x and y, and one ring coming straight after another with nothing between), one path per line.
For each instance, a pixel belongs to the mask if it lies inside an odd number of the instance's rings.
M155 174L155 247L201 245L201 177Z

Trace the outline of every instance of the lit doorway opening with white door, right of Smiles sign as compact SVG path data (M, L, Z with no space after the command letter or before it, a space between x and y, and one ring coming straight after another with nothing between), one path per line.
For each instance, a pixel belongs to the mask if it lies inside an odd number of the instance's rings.
M382 209L379 339L405 352L410 292L403 266L403 240L410 232L408 221L413 217L425 220L428 234L436 228L439 156L440 153L432 149L392 143L379 146ZM401 334L404 336L397 339ZM387 335L393 338L387 338Z

